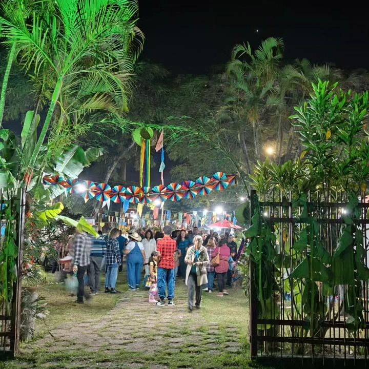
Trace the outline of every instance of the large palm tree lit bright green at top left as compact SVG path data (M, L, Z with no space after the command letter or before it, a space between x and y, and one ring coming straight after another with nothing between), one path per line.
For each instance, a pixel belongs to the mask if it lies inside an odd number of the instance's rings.
M56 134L96 110L117 112L120 106L127 111L130 77L143 39L136 27L136 0L41 3L43 11L33 13L29 22L0 17L5 44L16 43L16 56L32 75L36 91L49 101L29 168L52 122Z

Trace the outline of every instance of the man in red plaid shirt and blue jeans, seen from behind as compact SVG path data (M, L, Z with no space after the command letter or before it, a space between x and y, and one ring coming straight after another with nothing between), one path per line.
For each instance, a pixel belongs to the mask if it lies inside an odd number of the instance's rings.
M158 265L157 287L160 301L154 305L164 306L166 289L168 288L168 306L174 306L174 254L177 252L177 242L170 237L172 229L169 226L163 228L164 237L157 241L157 252L160 260Z

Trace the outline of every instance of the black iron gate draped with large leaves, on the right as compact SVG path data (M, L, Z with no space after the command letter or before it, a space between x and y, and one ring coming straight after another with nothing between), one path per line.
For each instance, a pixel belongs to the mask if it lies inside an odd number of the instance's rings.
M314 201L307 199L309 215L315 217L321 234L320 242L324 249L333 255L337 248L342 227L342 215L345 214L348 199L344 193L335 193L329 202L321 201L320 195ZM363 237L365 249L364 263L368 266L369 253L369 203L365 197L359 200L357 208L361 210L356 220ZM260 219L276 236L275 258L271 273L275 284L271 299L268 300L264 313L260 309L258 278L262 277L259 265L250 262L250 343L253 358L268 360L285 359L299 364L343 364L346 367L369 365L369 290L368 280L357 281L361 297L356 300L363 319L354 326L353 319L346 311L348 285L334 285L330 293L324 291L323 283L314 282L313 289L318 292L317 303L320 309L313 316L309 312L309 303L303 304L303 291L306 281L295 278L291 283L290 274L301 263L301 254L296 253L294 244L302 231L299 209L293 206L292 195L282 194L278 190L262 194L252 192L251 217L255 209L260 212ZM264 266L262 267L264 268ZM263 279L263 283L265 279ZM292 287L291 287L292 285ZM290 287L289 287L290 286ZM263 285L262 288L265 288ZM350 290L351 291L351 290ZM305 311L303 311L305 306ZM314 302L310 306L315 306ZM360 309L357 311L360 313ZM265 313L266 311L266 313ZM314 330L309 327L314 322ZM320 318L319 318L320 317ZM356 317L358 318L358 317ZM353 329L354 326L354 329ZM314 332L314 334L312 334Z

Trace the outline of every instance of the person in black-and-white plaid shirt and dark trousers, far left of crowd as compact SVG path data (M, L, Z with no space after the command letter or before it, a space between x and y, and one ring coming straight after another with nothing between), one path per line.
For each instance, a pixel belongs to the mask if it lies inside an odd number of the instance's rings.
M85 283L84 276L90 265L91 240L84 232L76 231L71 249L73 272L77 273L78 292L77 303L84 303Z

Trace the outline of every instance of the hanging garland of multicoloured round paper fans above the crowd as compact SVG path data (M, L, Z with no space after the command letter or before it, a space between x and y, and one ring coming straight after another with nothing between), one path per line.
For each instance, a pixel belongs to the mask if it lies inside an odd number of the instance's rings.
M211 177L201 176L195 181L187 180L182 183L173 182L168 186L155 187L138 186L109 186L107 183L95 183L82 179L65 179L59 175L45 175L44 186L61 186L67 194L79 194L85 201L95 198L108 204L110 201L120 203L128 201L136 204L150 204L159 199L163 201L179 201L182 198L193 199L197 195L208 195L213 190L223 191L236 182L236 175L223 172L214 173Z

